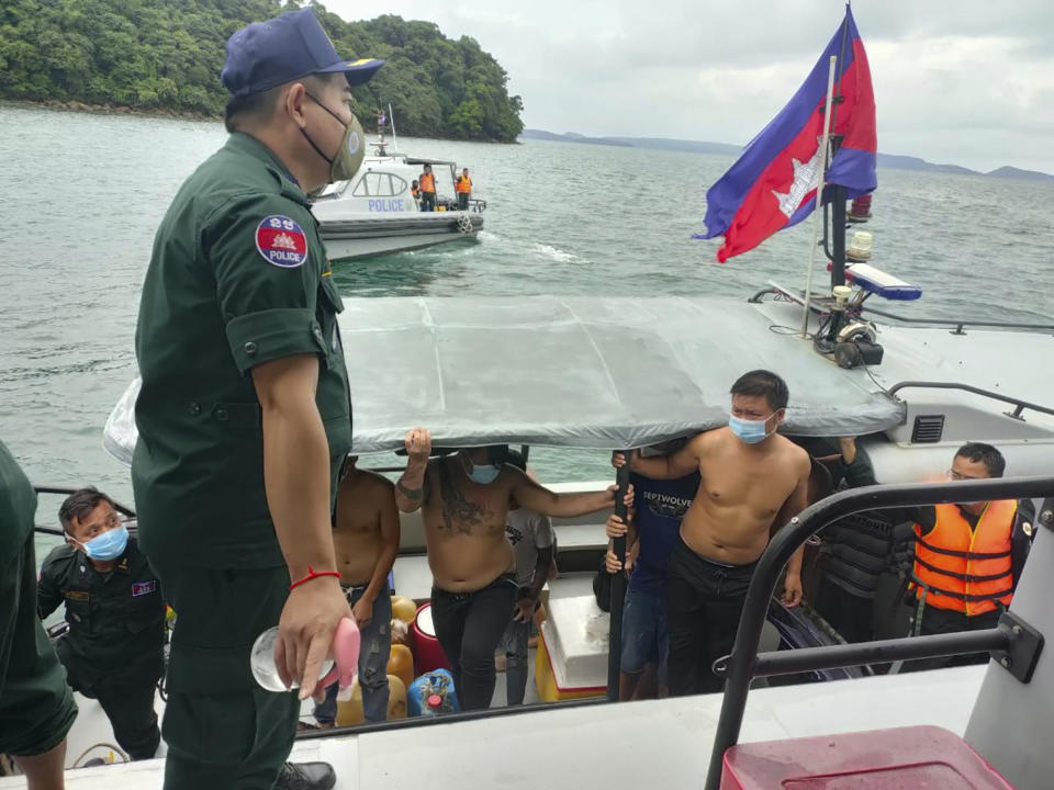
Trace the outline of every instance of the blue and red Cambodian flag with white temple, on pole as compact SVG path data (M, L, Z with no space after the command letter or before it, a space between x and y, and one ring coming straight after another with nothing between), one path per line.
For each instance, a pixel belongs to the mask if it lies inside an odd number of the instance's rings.
M831 55L838 57L831 134L842 140L827 183L844 185L849 198L875 189L875 94L864 43L846 5L845 20L808 79L706 193L706 234L693 238L724 236L717 251L722 263L812 212Z

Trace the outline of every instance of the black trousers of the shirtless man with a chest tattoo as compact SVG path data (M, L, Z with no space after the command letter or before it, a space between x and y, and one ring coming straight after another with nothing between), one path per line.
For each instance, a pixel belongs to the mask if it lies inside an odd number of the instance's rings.
M513 617L516 577L503 574L473 592L433 587L431 620L450 663L462 710L489 708L494 696L494 651Z

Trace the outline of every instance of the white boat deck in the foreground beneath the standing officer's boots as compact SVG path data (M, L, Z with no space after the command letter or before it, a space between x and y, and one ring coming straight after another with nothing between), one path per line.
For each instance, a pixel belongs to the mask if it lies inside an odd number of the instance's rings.
M985 667L759 689L743 742L937 724L966 730ZM700 787L721 696L601 704L301 741L292 759L326 760L336 790L583 790ZM161 760L67 774L70 790L160 790ZM24 788L0 779L0 790Z

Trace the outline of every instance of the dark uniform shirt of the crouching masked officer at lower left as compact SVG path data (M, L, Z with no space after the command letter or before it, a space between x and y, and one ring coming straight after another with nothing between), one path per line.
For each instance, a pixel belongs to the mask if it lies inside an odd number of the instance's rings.
M58 546L44 560L36 595L41 619L66 603L69 633L59 653L78 688L99 680L160 677L165 601L134 538L105 573L81 552Z

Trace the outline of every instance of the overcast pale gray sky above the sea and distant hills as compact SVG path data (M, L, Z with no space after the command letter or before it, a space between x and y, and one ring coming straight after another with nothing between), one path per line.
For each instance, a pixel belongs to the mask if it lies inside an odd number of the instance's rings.
M327 0L470 35L528 127L742 144L805 79L841 0ZM1054 172L1054 2L857 0L878 150ZM367 53L358 53L366 55Z

